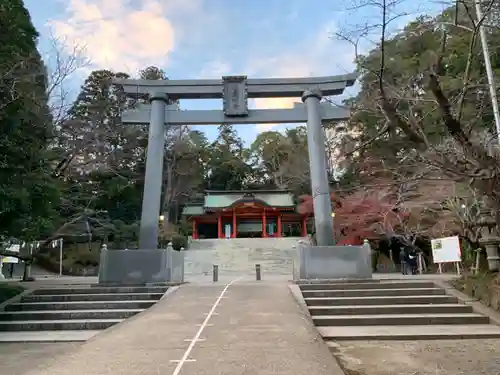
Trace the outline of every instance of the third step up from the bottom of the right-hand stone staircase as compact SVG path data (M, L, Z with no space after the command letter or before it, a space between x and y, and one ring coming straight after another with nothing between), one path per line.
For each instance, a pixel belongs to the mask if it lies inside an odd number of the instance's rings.
M366 305L366 306L309 306L311 315L379 315L379 314L453 314L472 313L470 305L422 304L422 305Z

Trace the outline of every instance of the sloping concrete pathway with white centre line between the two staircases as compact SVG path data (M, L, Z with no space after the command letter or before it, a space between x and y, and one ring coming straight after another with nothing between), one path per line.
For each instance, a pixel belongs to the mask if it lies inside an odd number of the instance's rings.
M33 364L35 366L35 364ZM341 375L284 282L183 285L23 375Z

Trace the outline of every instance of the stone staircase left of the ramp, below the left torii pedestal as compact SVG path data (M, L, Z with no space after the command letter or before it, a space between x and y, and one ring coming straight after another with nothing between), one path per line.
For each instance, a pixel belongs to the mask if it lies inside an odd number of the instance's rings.
M151 307L166 290L166 286L37 289L0 311L0 334L54 331L58 331L58 337L62 336L62 331L92 331L96 334ZM75 334L70 336L78 337ZM89 335L82 337L88 338ZM0 341L5 340L0 337Z

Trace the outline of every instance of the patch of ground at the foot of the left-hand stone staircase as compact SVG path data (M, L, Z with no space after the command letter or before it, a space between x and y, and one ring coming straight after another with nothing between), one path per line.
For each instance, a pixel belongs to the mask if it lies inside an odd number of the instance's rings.
M49 359L56 355L64 355L64 353L73 349L77 345L80 344L0 343L0 374L24 375L34 368L43 368Z

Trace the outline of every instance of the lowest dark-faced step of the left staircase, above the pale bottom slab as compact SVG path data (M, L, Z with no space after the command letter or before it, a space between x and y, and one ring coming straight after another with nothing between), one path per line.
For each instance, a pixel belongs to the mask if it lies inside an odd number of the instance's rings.
M102 330L109 328L123 319L82 319L82 320L18 320L0 322L0 332L12 331L71 331Z

